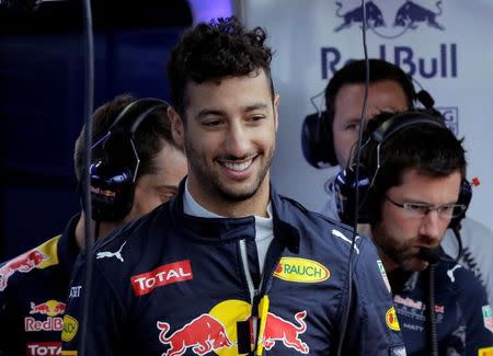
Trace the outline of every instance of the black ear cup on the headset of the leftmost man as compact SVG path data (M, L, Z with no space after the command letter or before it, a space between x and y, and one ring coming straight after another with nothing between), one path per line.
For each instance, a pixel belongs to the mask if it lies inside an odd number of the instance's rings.
M99 161L90 166L92 219L121 221L134 205L135 185L129 169Z

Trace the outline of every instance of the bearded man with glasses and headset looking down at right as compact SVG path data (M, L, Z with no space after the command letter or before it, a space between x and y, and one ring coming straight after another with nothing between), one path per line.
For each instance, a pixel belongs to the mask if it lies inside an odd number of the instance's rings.
M439 248L447 227L463 216L470 192L461 140L434 115L382 113L369 120L357 180L367 174L368 183L358 183L362 213L390 282L408 355L491 355L486 292ZM346 193L339 199L342 211L349 208L347 190L355 185L347 173L355 166L336 180L336 191Z

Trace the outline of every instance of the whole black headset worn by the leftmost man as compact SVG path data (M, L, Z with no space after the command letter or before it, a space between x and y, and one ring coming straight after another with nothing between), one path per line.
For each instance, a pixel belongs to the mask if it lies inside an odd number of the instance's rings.
M92 145L91 151L103 145L104 153L104 158L92 162L89 169L93 220L119 221L130 213L140 164L134 135L151 112L168 106L167 102L153 97L131 102L122 110L107 133ZM135 166L112 160L105 149L108 142L129 145L129 152L135 156Z

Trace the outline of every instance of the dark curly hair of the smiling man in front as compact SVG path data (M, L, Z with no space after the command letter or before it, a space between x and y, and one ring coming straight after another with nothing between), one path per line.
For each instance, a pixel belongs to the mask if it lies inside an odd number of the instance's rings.
M257 74L261 69L271 82L274 97L272 50L264 46L265 38L263 28L246 31L236 16L200 23L186 32L172 50L168 64L174 108L183 116L185 87L190 80L199 84L225 77Z

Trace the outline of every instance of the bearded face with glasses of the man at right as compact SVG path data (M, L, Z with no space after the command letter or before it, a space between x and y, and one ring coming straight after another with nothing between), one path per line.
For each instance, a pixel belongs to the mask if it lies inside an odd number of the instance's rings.
M435 207L455 204L459 197L461 176L455 172L445 177L420 175L416 170L403 173L402 184L387 191L387 197L398 204L423 203ZM410 217L406 211L383 199L381 219L371 228L387 272L397 267L423 271L427 263L417 256L421 248L437 248L450 218L431 210L423 217Z

